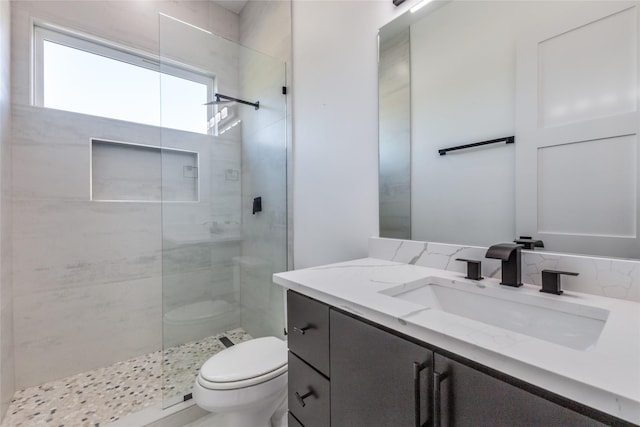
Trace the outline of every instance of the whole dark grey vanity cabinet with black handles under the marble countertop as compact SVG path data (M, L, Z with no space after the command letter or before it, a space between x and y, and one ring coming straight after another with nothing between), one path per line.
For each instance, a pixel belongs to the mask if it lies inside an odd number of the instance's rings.
M631 425L295 292L287 301L292 426Z

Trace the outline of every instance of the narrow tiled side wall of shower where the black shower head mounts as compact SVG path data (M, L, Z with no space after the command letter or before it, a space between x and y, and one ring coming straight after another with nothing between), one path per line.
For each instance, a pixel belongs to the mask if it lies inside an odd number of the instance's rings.
M260 114L243 109L242 227L245 239L237 266L241 277L242 326L252 336L282 336L284 296L271 275L287 269L287 132L284 108L286 65L291 59L291 3L249 2L240 20L240 85L260 99ZM264 107L264 109L263 109ZM263 211L252 215L253 197Z

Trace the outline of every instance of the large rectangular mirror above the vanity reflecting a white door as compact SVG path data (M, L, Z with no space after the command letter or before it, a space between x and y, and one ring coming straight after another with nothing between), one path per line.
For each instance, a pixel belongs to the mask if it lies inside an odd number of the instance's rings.
M640 258L639 9L433 2L381 28L380 236Z

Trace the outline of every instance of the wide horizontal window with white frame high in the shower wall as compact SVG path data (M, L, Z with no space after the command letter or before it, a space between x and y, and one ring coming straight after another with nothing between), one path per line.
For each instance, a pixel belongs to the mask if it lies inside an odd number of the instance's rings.
M212 76L42 24L34 34L35 105L208 133Z

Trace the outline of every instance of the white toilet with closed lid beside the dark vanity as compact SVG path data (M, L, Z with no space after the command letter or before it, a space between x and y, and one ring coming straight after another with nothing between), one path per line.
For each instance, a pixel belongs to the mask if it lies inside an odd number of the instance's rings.
M211 356L193 387L193 400L215 412L216 427L271 427L286 405L287 344L276 337L254 338Z

